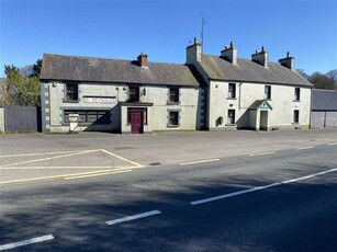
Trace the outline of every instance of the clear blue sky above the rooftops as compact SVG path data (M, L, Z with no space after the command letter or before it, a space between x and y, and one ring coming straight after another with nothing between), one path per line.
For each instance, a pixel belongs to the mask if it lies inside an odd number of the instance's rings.
M336 0L0 0L0 76L44 53L183 64L202 18L205 54L233 41L240 58L265 46L306 73L337 68Z

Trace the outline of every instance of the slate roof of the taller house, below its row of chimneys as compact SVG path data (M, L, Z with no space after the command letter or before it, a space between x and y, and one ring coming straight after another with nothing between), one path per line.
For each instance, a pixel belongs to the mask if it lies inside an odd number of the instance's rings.
M200 64L209 78L213 80L312 87L296 71L292 71L278 62L268 62L268 68L265 68L250 59L238 58L237 65L233 65L218 56L202 55Z

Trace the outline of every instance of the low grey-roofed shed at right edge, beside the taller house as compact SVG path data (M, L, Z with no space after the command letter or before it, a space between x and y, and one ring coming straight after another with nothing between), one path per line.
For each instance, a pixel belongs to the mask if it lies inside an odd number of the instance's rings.
M313 89L311 126L337 127L337 91Z

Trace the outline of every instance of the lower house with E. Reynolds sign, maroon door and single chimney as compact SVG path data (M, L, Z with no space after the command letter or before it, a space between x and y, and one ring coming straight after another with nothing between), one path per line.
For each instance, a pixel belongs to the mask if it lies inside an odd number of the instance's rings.
M204 82L193 66L45 54L41 71L43 130L151 133L204 125Z

